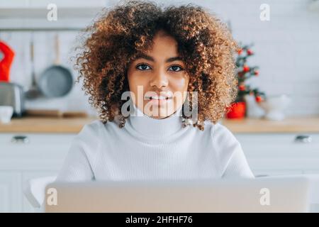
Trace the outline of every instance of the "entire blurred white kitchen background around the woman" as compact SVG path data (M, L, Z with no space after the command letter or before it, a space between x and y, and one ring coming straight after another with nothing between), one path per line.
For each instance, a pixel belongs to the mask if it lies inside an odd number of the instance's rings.
M26 182L55 176L97 118L70 57L79 31L117 3L0 0L0 211L33 211ZM240 43L238 96L220 123L254 175L319 173L319 1L174 1L184 3L216 14Z

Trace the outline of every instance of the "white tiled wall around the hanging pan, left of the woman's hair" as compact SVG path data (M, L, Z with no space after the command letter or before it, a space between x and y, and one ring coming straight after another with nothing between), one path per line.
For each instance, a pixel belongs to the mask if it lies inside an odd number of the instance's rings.
M55 49L54 38L55 32L35 32L34 48L35 48L35 76L40 77L41 72L54 63ZM71 48L74 46L76 32L60 32L60 60L62 65L72 70L72 64L69 62L69 57L72 55ZM30 33L12 32L1 33L1 39L6 40L9 45L15 50L16 57L11 67L11 82L22 84L25 89L30 87L31 83L31 63L30 63ZM74 80L77 77L77 72L72 70ZM87 96L81 91L81 84L74 84L72 91L67 96L36 100L26 100L26 108L35 109L60 109L89 111L90 114L95 114L95 111L90 108L87 102Z

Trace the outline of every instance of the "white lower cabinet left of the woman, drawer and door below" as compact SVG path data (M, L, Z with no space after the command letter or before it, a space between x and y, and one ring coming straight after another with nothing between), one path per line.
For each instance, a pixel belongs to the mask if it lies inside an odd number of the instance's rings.
M23 195L23 184L57 175L75 135L0 133L0 211L34 211Z

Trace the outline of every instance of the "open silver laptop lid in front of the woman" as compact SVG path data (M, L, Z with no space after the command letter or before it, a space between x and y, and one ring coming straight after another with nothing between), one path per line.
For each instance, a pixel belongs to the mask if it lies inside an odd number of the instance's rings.
M45 212L308 212L306 177L53 182Z

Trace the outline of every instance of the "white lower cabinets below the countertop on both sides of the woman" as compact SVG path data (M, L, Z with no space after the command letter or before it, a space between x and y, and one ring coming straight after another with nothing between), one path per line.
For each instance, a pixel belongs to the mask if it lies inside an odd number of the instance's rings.
M33 211L23 195L23 184L31 178L57 175L75 135L0 133L0 211ZM319 133L305 134L312 138L310 143L296 143L298 133L234 135L256 176L319 174Z

